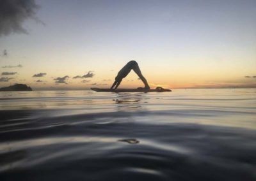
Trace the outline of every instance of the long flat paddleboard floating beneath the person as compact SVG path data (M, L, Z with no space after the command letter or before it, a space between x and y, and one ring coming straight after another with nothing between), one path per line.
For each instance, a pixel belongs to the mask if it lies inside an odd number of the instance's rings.
M162 87L156 87L156 89L100 89L93 87L92 91L96 92L172 92L170 89L163 89Z

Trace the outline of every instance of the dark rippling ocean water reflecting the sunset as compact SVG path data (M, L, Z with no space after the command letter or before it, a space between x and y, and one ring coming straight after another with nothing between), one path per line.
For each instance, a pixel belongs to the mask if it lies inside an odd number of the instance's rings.
M256 89L0 92L0 180L256 180Z

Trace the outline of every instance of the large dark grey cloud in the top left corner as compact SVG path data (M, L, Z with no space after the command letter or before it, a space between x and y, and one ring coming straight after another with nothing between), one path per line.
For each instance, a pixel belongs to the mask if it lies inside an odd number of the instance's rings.
M0 36L11 33L28 33L22 26L25 20L35 17L38 5L35 0L1 0L0 1Z

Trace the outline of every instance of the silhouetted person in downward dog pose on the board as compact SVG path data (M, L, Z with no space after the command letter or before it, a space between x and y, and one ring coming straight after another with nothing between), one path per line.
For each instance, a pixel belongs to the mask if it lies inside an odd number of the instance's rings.
M117 74L116 78L115 78L115 82L113 83L113 85L111 86L111 89L113 89L113 87L115 87L115 89L120 85L120 83L122 82L123 78L125 78L125 76L127 76L130 71L133 69L133 71L140 77L140 79L142 80L142 82L144 83L145 87L144 89L150 89L148 82L146 80L146 78L142 75L140 68L138 66L138 63L136 61L129 61Z

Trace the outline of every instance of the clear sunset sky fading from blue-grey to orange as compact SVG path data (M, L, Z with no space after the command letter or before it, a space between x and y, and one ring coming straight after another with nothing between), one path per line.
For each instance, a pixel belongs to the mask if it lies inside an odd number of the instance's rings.
M255 0L35 2L36 18L21 22L27 34L0 36L1 74L17 72L1 75L13 79L0 87L109 87L131 60L151 87L256 87ZM88 71L92 78L72 78ZM32 77L38 73L46 75ZM66 75L67 84L56 84ZM133 72L120 85L138 86Z

